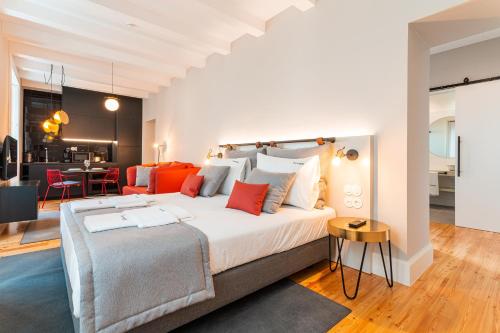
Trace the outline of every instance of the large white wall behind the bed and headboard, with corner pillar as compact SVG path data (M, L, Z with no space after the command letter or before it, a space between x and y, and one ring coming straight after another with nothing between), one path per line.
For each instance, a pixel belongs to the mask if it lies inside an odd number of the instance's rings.
M391 225L404 265L429 244L424 203L408 200L408 186L427 197L427 181L408 184L408 23L461 2L320 0L305 13L290 9L263 37L237 41L231 55L211 57L145 100L144 121L156 119L167 159L194 162L220 143L375 134L374 216ZM421 57L425 48L418 48ZM414 115L418 124L427 125L427 108L424 114ZM408 213L418 208L424 212L409 230Z

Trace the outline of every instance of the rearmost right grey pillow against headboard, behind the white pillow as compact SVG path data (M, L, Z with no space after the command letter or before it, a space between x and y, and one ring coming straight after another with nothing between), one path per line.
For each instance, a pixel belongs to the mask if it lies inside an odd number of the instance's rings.
M333 144L331 142L326 142L321 146L307 147L307 148L297 148L297 149L283 149L275 147L267 147L267 155L282 158L306 158L318 155L321 179L319 181L319 196L316 202L315 208L322 209L325 206L326 193L327 193L327 183L326 177L328 176L328 170L330 168L330 161L333 157Z

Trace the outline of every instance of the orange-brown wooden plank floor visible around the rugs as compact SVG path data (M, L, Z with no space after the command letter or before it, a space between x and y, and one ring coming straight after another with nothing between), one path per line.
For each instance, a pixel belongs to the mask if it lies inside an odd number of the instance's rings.
M58 201L44 210L57 210ZM19 245L27 223L0 232L0 256L60 246L59 240ZM330 332L500 332L500 234L432 223L434 263L412 286L390 289L385 279L363 274L358 297L344 297L340 272L323 262L292 279L352 313ZM347 269L346 283L357 272Z

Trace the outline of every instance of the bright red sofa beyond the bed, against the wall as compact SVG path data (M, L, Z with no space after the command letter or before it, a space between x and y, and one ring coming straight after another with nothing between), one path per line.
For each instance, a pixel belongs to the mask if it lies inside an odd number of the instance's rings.
M123 195L179 192L184 179L200 170L191 163L183 162L143 164L143 166L154 167L149 176L149 186L135 186L137 166L129 167L127 168L127 186L122 189Z

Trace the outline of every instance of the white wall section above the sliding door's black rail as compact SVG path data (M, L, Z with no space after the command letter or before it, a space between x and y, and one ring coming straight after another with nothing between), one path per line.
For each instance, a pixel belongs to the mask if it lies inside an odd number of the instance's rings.
M500 75L500 38L431 56L431 87Z

